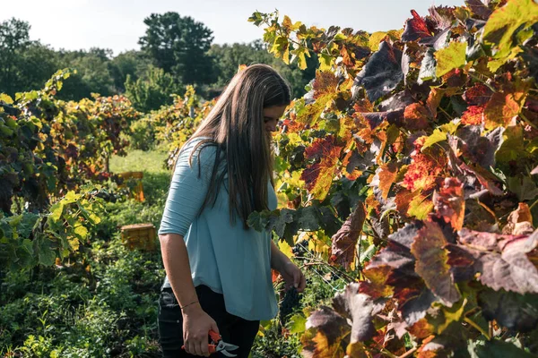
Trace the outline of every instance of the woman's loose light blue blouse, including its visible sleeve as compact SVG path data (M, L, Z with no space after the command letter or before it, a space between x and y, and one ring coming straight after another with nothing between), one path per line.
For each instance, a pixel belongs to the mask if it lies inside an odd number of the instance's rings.
M278 311L271 275L271 234L252 228L245 230L239 216L235 225L230 224L227 176L215 205L206 204L197 216L208 191L216 155L215 146L201 145L189 166L195 144L201 140L188 141L180 150L159 234L183 236L195 286L205 285L223 294L226 311L245 320L270 320ZM220 168L225 166L225 160L219 160ZM268 192L268 207L276 209L271 183ZM163 286L169 287L168 277Z

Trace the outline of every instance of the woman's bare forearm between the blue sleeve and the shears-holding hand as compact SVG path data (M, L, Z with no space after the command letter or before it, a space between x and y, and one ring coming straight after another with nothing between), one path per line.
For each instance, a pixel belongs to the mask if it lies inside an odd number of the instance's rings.
M198 301L198 296L191 277L187 247L183 241L183 236L180 234L160 234L159 239L164 269L179 306L188 305L186 311L200 308L199 303L195 303Z

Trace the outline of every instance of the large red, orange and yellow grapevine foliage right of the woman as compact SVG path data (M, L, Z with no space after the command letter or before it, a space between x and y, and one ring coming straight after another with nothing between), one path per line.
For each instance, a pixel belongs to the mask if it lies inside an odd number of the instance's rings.
M303 353L525 356L516 339L538 324L538 4L432 7L372 34L277 12L249 21L284 62L320 64L275 138L287 208L249 217L290 244L312 232L348 271L308 317Z

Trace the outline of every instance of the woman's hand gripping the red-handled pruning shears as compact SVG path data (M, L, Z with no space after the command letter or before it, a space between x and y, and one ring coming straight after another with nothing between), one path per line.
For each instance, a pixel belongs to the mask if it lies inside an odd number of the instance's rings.
M217 323L199 303L186 307L183 314L183 341L188 354L209 356L209 331L219 333ZM220 334L220 333L219 333Z

